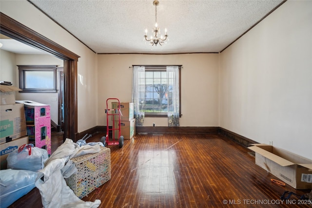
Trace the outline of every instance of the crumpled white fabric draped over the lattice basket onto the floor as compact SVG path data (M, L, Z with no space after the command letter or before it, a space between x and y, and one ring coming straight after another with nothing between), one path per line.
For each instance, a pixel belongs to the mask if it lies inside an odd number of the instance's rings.
M101 203L100 200L84 202L79 199L74 191L67 186L63 177L63 173L66 173L67 176L71 175L71 168L75 167L75 165L71 165L71 162L67 164L67 162L72 157L77 156L78 152L99 152L99 146L92 147L95 148L87 147L80 149L79 145L71 139L66 139L45 162L45 167L38 171L38 177L35 182L41 194L44 208L98 208Z

